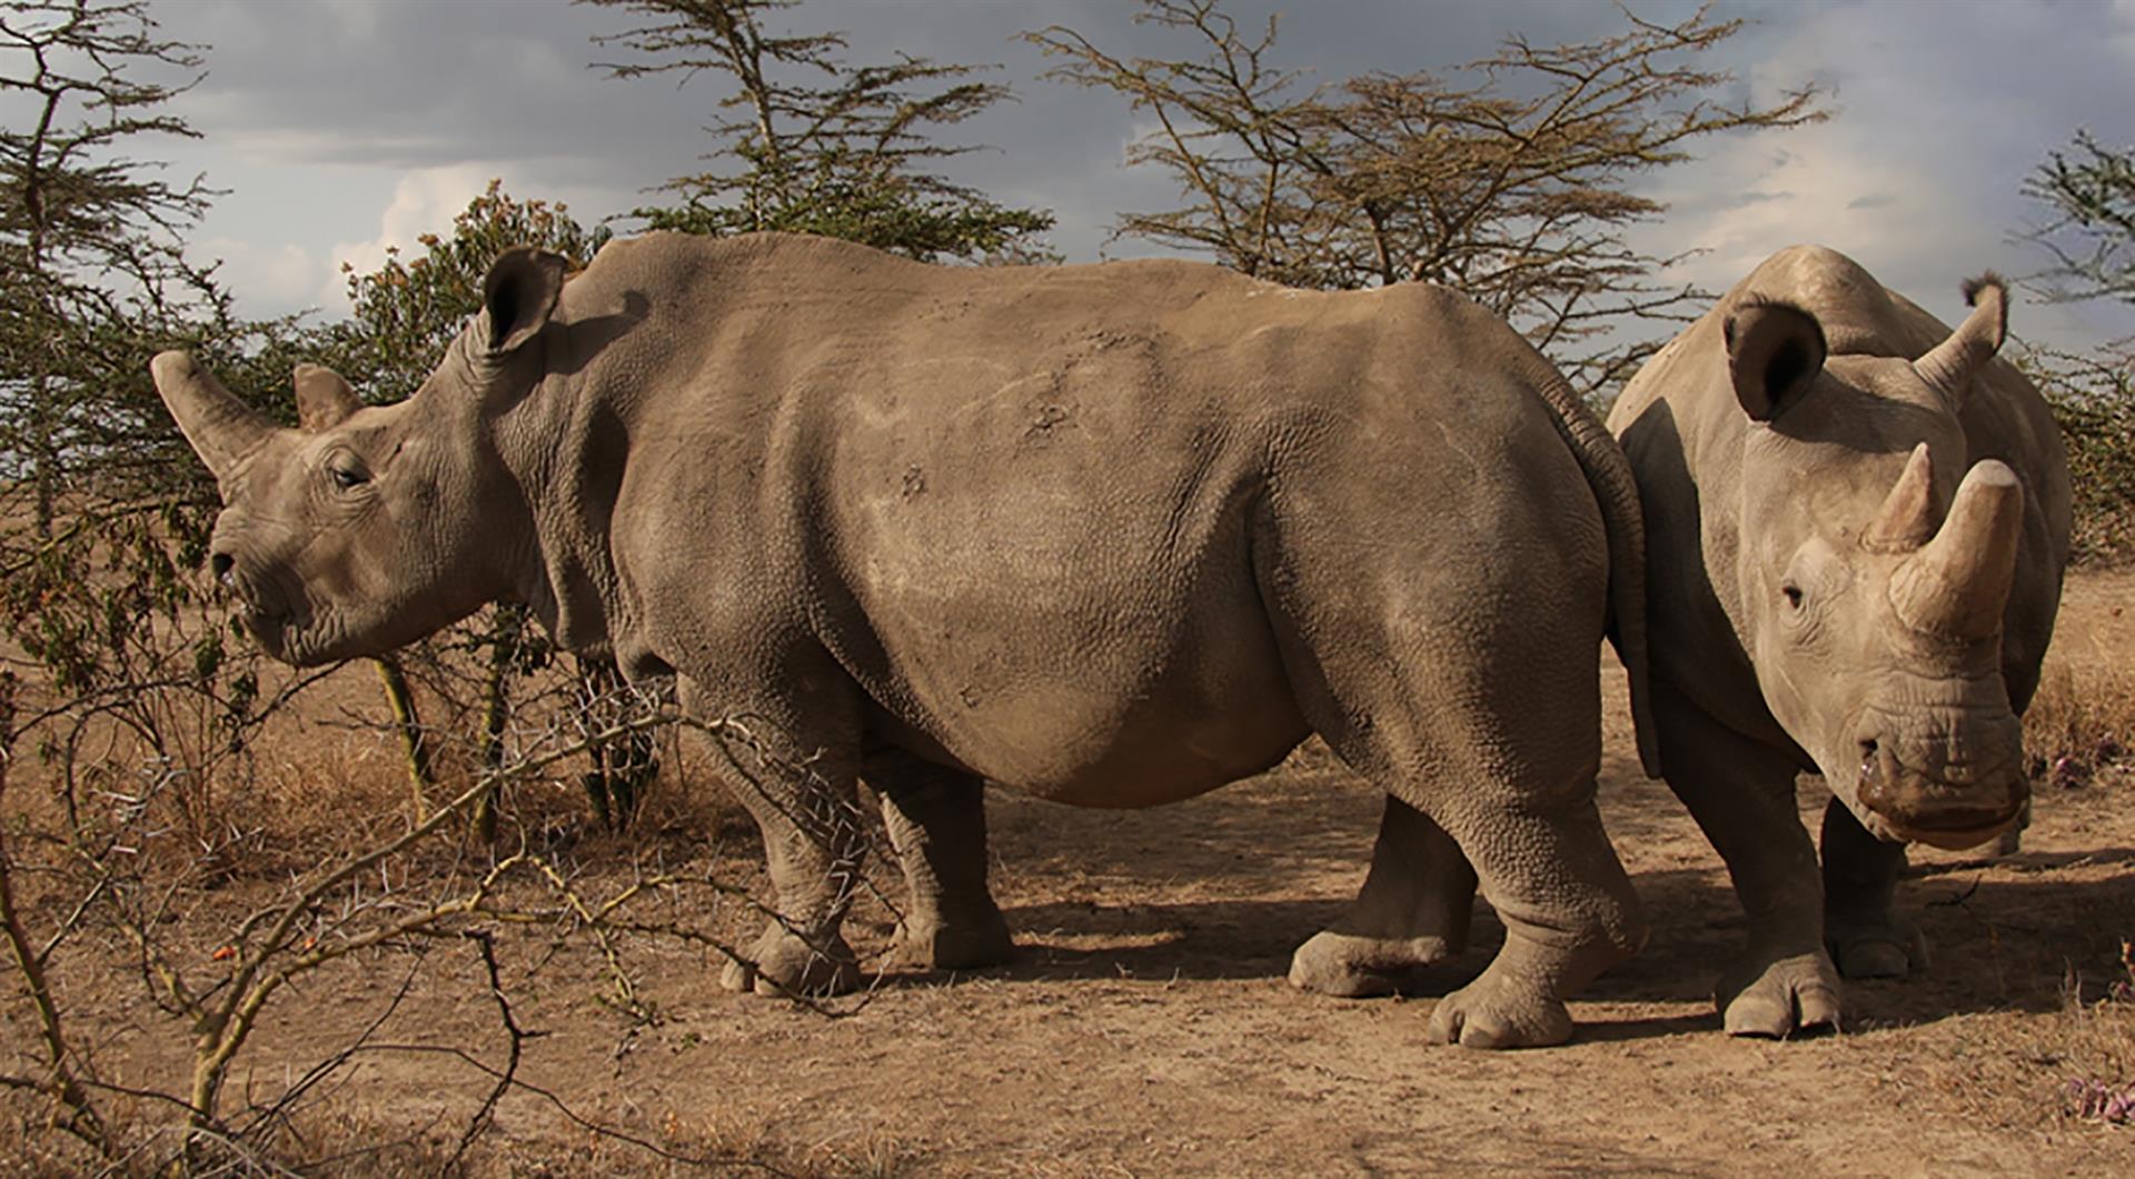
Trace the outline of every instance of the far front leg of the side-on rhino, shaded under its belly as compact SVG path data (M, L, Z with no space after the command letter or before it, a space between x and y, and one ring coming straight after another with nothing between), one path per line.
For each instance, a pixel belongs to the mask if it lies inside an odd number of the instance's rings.
M905 870L905 962L927 970L1008 962L1008 919L986 887L984 782L905 750L869 755L865 776Z

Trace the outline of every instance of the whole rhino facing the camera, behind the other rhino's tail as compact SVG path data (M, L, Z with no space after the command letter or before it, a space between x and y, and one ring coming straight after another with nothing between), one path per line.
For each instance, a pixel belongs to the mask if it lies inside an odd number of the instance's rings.
M1646 505L1667 782L1749 910L1736 1034L1838 1021L1838 970L1904 974L1904 840L1964 849L2030 795L2018 714L2060 603L2069 473L1994 352L2007 292L1949 330L1821 247L1774 254L1610 414ZM1796 817L1819 772L1823 874ZM1836 953L1836 966L1832 955Z

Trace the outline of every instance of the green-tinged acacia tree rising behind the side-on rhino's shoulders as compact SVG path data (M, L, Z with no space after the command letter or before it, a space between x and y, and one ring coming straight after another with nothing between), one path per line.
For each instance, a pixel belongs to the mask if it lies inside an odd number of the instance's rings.
M910 258L1044 260L1042 209L1012 209L931 171L971 147L933 139L1008 98L978 66L899 55L877 66L841 60L845 36L766 32L762 17L796 0L589 0L651 23L598 36L636 53L602 64L632 79L726 75L707 128L709 171L662 185L681 205L638 209L649 228L728 235L790 230L841 237Z

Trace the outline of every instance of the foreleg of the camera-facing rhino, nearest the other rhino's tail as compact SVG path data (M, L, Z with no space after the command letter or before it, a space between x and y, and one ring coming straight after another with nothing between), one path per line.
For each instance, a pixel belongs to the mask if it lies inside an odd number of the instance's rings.
M1655 680L1667 785L1706 831L1749 915L1749 947L1714 1002L1729 1036L1785 1038L1838 1025L1840 985L1823 947L1817 849L1793 806L1793 761L1717 723Z

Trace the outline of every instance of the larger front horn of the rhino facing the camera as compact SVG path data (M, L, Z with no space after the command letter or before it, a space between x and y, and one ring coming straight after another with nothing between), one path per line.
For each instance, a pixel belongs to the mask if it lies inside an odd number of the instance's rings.
M2000 631L2024 529L2024 484L1998 458L1975 465L1949 518L1892 578L1898 620L1915 631L1986 640Z

